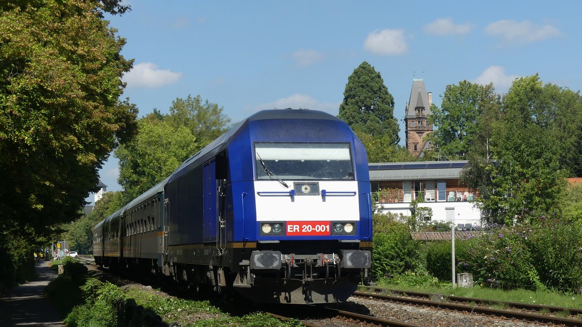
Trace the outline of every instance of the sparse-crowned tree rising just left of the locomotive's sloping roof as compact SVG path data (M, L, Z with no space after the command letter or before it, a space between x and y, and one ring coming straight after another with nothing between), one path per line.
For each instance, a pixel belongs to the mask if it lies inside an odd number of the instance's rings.
M230 118L222 113L222 107L208 100L203 102L200 95L176 98L165 120L175 129L187 127L198 142L196 151L221 136L230 123Z

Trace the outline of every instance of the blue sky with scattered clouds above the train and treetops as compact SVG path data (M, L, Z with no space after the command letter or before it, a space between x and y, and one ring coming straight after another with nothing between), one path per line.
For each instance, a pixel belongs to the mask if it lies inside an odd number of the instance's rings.
M232 122L262 109L308 108L338 115L347 77L366 61L404 110L413 79L441 104L449 84L516 77L582 88L582 1L123 1L106 16L134 59L122 98L139 117L200 95ZM118 161L100 170L119 191ZM87 198L93 201L93 195Z

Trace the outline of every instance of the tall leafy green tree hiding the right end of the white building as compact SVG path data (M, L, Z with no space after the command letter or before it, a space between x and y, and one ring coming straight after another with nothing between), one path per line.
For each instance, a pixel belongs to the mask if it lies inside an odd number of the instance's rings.
M558 207L566 174L560 168L552 93L553 86L542 86L537 75L517 79L503 99L499 119L487 125L488 151L496 163L481 163L481 176L478 169L469 173L473 180L490 179L480 189L485 221L531 222Z

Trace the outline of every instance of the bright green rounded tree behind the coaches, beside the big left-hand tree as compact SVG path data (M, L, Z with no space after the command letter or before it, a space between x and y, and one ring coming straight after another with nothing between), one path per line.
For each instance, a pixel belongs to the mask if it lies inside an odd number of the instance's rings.
M114 152L127 202L171 175L199 147L187 127L175 129L155 114L139 119L138 126L137 136Z

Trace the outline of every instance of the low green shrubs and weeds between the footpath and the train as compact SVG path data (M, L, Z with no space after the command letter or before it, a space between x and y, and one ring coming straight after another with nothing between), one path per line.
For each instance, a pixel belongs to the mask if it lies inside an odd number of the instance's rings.
M231 315L208 300L168 296L159 290L127 285L123 289L98 280L94 271L77 269L76 260L65 264L65 274L53 280L47 294L68 326L159 326L160 321L195 327L301 326L299 321L281 321L261 312ZM54 261L55 268L60 260ZM69 269L67 269L69 265ZM116 307L123 308L118 315ZM232 306L232 304L231 304ZM122 317L118 321L119 317Z

